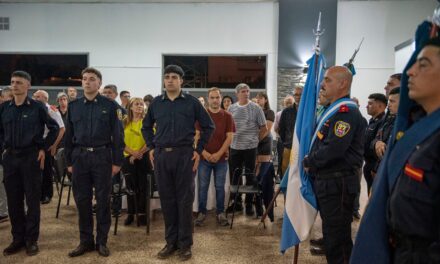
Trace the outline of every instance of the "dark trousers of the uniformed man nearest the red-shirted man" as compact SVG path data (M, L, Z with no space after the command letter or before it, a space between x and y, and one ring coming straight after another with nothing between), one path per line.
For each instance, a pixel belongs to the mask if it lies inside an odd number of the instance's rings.
M193 151L191 146L154 150L154 173L165 221L165 240L168 245L179 248L193 244Z

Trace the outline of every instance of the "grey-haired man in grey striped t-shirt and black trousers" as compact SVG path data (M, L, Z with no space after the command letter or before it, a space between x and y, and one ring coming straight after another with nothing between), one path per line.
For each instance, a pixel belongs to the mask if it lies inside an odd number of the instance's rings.
M229 107L229 112L235 121L235 134L231 144L229 155L231 184L236 185L239 181L241 169L244 166L246 173L254 173L255 160L257 157L258 142L263 139L267 132L266 118L263 110L249 100L250 88L245 83L240 83L235 88L237 103ZM254 183L252 175L246 175L246 184ZM246 195L246 214L253 215L252 195ZM232 211L234 205L228 208ZM243 210L241 197L237 198L236 211Z

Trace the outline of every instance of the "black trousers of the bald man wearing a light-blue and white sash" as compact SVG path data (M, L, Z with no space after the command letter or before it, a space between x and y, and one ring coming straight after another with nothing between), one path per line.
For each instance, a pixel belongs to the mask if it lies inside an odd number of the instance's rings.
M321 175L320 175L321 176ZM314 189L322 218L325 255L329 264L348 263L353 241L353 203L359 190L359 175L353 171L335 179L315 178Z

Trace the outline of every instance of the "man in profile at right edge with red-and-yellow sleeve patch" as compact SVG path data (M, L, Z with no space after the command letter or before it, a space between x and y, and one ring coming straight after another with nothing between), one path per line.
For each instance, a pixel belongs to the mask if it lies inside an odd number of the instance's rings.
M440 263L439 73L440 39L436 38L426 43L416 63L407 71L409 98L423 108L418 118L412 120L412 126L415 128L419 123L419 129L432 131L409 128L396 136L401 141L415 132L418 139L411 141L419 143L400 167L400 176L388 202L393 263Z

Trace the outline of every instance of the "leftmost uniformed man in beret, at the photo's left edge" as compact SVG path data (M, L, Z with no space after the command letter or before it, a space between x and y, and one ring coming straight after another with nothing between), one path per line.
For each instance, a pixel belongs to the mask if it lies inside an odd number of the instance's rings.
M0 105L0 143L3 146L4 184L12 225L12 243L3 250L11 255L26 247L31 256L38 253L40 198L45 153L55 142L58 124L47 108L27 96L31 76L15 71L11 76L13 99ZM43 139L44 127L49 132ZM49 157L48 157L49 158ZM26 198L27 212L23 198Z

